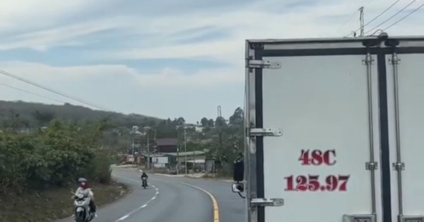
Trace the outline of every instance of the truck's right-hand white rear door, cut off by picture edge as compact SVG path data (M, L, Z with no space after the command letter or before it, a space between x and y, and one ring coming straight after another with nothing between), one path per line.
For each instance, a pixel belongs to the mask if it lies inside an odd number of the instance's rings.
M392 220L424 221L424 39L386 41ZM384 110L386 111L386 110ZM384 113L383 113L384 115ZM389 139L387 139L389 138Z

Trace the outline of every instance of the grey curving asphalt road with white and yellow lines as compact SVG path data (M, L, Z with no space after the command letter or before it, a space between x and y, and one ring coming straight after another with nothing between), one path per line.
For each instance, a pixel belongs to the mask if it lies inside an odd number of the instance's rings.
M115 168L112 174L119 181L131 185L133 191L119 202L100 207L98 218L93 222L247 221L244 199L231 192L228 182L149 175L150 186L144 190L141 173ZM218 211L214 211L217 207ZM214 216L219 218L218 221L214 221ZM71 221L74 221L73 218L58 222Z

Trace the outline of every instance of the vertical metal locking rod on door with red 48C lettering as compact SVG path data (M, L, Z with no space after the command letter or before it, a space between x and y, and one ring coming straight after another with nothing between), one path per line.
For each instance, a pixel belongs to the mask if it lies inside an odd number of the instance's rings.
M377 214L376 197L375 197L375 156L374 156L374 118L373 118L373 102L372 102L372 57L367 47L367 56L365 57L365 63L367 64L367 85L368 85L368 126L369 126L369 137L370 137L370 175L371 175L371 206L372 214Z

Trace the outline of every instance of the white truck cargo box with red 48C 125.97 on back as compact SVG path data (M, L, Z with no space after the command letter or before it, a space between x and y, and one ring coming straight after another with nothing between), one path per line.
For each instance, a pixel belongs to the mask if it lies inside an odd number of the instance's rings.
M424 37L246 44L250 222L424 221Z

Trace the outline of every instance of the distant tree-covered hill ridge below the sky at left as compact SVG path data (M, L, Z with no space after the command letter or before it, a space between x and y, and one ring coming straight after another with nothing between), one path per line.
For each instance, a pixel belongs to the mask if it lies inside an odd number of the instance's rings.
M160 118L139 114L123 114L109 111L97 111L84 106L71 104L50 105L25 101L0 101L0 124L10 123L18 117L23 127L39 127L47 125L52 119L65 121L95 121L110 118L117 127L131 128L132 125L155 125Z

